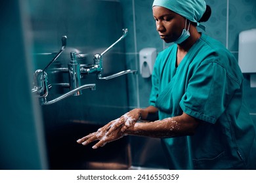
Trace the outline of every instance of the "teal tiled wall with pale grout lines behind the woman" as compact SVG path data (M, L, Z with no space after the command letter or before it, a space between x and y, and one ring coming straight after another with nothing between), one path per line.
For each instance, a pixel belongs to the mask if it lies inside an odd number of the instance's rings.
M124 25L129 29L125 39L127 67L139 69L139 51L154 47L158 52L166 48L156 31L152 16L153 0L120 0L123 7ZM255 0L206 0L212 15L205 22L206 34L223 42L238 58L238 35L241 31L256 28ZM199 29L200 30L200 29ZM200 30L201 31L201 30ZM251 117L256 122L256 88L250 88L249 76L245 76L245 100ZM147 107L151 79L140 75L129 76L129 107Z

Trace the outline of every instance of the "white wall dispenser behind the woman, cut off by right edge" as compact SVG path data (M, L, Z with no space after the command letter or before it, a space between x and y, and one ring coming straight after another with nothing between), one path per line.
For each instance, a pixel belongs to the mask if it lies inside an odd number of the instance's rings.
M239 34L238 64L242 73L251 75L251 87L256 87L256 29Z

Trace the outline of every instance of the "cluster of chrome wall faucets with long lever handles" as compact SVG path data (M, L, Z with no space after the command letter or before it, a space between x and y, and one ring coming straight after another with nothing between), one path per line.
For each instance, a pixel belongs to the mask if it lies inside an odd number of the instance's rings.
M96 74L96 78L99 80L109 80L112 78L116 78L117 76L125 75L127 73L137 73L137 70L126 70L126 71L121 71L119 73L116 73L114 75L110 76L105 76L102 77L102 57L108 50L110 50L113 46L115 46L118 42L123 40L128 33L128 29L123 29L123 35L116 41L114 42L110 47L108 47L104 52L101 54L95 54L93 58L93 64L90 65L89 67L83 67L83 65L80 65L77 63L77 55L80 56L80 54L77 54L75 52L70 53L70 63L68 63L68 68L58 68L58 69L53 69L56 71L63 71L63 72L68 72L68 78L69 78L69 83L62 83L58 84L60 86L64 87L69 87L70 92L65 93L63 95L60 95L60 97L57 97L56 99L53 99L51 101L47 101L47 96L49 94L49 90L52 88L51 84L48 84L48 76L46 73L46 70L49 68L49 66L62 54L64 49L66 48L66 40L67 37L63 36L62 37L62 47L58 54L48 63L48 65L42 70L42 69L37 69L34 73L34 86L32 89L32 93L37 93L37 97L39 97L39 102L40 105L51 105L53 103L56 103L62 99L65 99L66 97L69 97L70 95L81 95L82 92L81 90L90 88L91 90L95 90L95 84L85 84L81 86L81 75L82 74Z

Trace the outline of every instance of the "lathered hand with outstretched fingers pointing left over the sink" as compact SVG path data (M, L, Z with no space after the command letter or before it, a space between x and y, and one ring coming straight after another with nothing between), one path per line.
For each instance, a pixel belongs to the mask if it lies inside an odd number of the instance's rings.
M87 145L93 141L99 140L93 148L104 146L108 142L116 141L125 135L125 130L137 122L140 118L140 108L135 108L127 112L120 118L109 122L98 131L90 133L89 135L77 140L79 144Z

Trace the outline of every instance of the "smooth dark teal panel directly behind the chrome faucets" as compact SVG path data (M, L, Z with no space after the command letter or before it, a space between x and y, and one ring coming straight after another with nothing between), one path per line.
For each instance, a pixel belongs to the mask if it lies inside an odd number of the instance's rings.
M53 59L51 54L44 53L58 51L61 46L61 37L66 35L68 37L66 49L47 69L47 74L49 84L68 83L67 73L58 75L49 70L55 67L68 67L70 52L85 55L77 56L79 63L93 64L94 54L102 53L122 35L121 5L117 1L95 0L56 0L54 3L50 2L52 1L28 0L28 15L33 37L34 68L31 74L37 69L43 69ZM125 70L123 52L124 42L119 42L104 55L102 76L113 75ZM44 121L47 124L62 125L64 122L76 120L93 124L106 124L127 112L125 77L121 76L113 80L96 80L95 74L82 76L81 84L96 84L96 90L93 92L83 90L83 95L68 97L53 105L42 107ZM116 86L119 86L118 92ZM55 99L68 91L68 88L53 86L47 100ZM115 94L113 95L113 93Z

